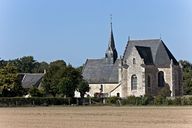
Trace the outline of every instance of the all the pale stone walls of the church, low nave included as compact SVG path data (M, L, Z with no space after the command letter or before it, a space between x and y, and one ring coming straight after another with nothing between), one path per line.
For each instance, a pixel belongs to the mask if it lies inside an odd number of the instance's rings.
M170 96L183 95L182 66L174 64L170 60L168 66L147 65L139 54L136 47L129 49L130 54L125 58L120 58L118 65L118 82L115 84L91 84L90 96L96 93L103 93L105 97L110 96L144 96L158 95L159 91L167 86L171 91ZM163 76L160 77L160 74ZM134 77L135 81L133 81ZM163 81L163 86L161 85ZM136 86L133 87L132 84Z

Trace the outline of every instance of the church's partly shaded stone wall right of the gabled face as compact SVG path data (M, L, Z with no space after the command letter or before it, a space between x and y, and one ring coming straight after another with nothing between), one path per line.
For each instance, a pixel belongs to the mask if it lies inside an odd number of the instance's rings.
M147 76L151 78L151 86L146 86L146 94L157 95L162 87L158 87L158 72L164 73L165 86L169 86L171 96L182 95L182 69L179 66L169 68L156 68L155 66L146 66L146 85Z

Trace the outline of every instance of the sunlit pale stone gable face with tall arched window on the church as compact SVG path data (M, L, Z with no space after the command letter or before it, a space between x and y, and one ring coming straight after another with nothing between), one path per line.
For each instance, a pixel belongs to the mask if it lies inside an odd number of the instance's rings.
M123 82L123 87L127 86L126 90L123 94L124 97L134 95L134 96L140 96L145 94L145 68L142 67L143 65L143 59L140 57L139 53L137 52L136 48L134 47L131 49L131 55L129 55L126 59L126 62L124 62L124 65L127 65L127 68L123 68L123 80L126 80L126 82ZM137 89L133 90L131 88L131 77L133 75L136 75L137 77ZM126 84L126 85L125 85Z

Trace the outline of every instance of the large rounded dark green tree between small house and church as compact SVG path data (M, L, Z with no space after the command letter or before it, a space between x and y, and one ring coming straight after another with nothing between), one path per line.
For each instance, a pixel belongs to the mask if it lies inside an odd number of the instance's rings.
M71 65L66 65L63 60L57 60L50 63L43 80L43 88L46 94L53 96L62 94L67 97L74 97L74 91L81 79L81 73L77 69ZM70 83L68 83L69 81ZM64 88L67 89L69 94Z

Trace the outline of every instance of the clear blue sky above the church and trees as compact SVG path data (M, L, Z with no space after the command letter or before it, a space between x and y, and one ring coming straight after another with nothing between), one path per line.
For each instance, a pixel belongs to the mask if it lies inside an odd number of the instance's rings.
M192 62L192 0L0 0L0 58L80 66L104 57L110 14L119 55L128 36L161 37L178 60Z

